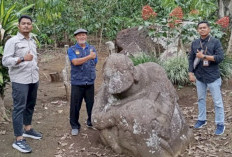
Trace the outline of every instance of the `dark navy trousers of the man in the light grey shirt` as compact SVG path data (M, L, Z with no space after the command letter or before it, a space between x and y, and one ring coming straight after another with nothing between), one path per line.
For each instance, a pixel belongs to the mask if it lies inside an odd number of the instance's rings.
M39 82L31 84L20 84L12 82L13 98L13 128L14 135L23 135L23 125L31 125L34 107L36 104Z

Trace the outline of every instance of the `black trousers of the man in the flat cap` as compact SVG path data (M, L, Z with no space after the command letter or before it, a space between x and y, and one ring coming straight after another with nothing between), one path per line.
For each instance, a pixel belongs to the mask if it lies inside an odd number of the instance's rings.
M70 103L70 124L72 129L80 129L79 112L83 98L86 103L88 114L87 121L91 122L92 108L94 103L94 85L72 85Z

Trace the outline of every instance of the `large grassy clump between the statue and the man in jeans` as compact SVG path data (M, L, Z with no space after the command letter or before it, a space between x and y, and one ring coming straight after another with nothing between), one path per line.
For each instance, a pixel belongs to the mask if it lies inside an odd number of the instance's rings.
M177 56L170 58L161 65L166 71L169 80L176 85L186 85L190 83L188 78L188 58L187 56Z

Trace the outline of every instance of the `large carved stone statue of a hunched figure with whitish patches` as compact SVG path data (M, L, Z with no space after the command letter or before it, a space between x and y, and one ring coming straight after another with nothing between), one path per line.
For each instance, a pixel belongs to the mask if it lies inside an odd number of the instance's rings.
M105 145L135 157L175 157L192 137L175 88L156 63L134 66L112 54L95 97L93 123Z

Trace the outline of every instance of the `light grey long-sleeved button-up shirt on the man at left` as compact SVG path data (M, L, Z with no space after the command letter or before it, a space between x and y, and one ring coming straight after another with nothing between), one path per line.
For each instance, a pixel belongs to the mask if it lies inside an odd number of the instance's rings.
M18 59L24 57L28 52L33 55L33 60L17 64ZM21 33L18 33L6 42L2 64L9 68L11 82L30 84L39 81L36 43L31 34L30 38L26 39Z

